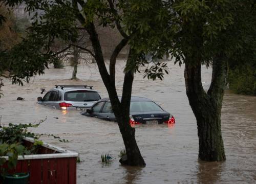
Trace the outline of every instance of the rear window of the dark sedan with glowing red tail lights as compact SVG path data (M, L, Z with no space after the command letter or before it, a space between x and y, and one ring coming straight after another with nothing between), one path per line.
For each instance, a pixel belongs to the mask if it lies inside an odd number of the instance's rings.
M155 102L150 101L138 101L138 102L131 102L130 105L130 112L137 112L137 111L163 111L161 107L159 107Z

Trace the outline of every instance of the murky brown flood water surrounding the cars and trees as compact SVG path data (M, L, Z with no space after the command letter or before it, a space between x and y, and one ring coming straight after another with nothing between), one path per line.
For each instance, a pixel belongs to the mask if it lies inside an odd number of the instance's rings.
M72 67L46 70L44 76L32 78L24 86L5 79L0 99L2 124L33 123L47 120L37 133L53 133L69 140L61 143L47 136L48 143L79 152L77 183L256 183L256 97L226 93L222 107L222 135L227 160L222 163L198 161L198 136L194 114L185 93L184 66L168 63L170 75L163 81L148 81L136 74L133 96L147 97L176 119L174 126L136 125L136 140L146 162L145 168L123 167L118 162L124 148L118 125L81 116L78 111L58 111L36 104L40 87L54 84L88 84L108 97L96 65L81 64L78 81L71 81ZM121 95L123 61L117 63L116 85ZM209 87L211 70L203 67L202 82ZM25 98L16 101L17 97ZM58 118L58 119L56 119ZM102 153L111 153L110 165L100 163Z

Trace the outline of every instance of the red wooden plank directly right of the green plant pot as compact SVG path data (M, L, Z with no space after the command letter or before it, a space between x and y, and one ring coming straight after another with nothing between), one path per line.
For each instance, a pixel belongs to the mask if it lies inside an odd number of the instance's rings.
M29 164L29 183L41 184L41 159L31 159Z

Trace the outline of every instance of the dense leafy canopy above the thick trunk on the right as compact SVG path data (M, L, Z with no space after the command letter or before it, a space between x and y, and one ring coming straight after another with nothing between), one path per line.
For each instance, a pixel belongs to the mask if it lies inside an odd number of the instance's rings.
M248 45L255 45L255 7L252 5L250 0L195 0L169 4L171 20L176 24L170 27L176 30L167 45L170 54L180 64L199 59L210 64L220 52L232 59L242 57L243 52L254 48Z

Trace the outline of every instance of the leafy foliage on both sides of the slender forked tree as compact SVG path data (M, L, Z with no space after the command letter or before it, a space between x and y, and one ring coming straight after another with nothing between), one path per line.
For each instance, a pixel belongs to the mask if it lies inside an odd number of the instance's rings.
M28 37L11 51L0 56L1 71L8 71L13 83L23 85L30 77L36 74L44 74L49 62L57 62L55 53L51 50L54 39L62 39L67 42L75 42L78 37L77 16L71 1L4 1L8 6L14 6L21 2L26 10L33 14L32 26ZM95 21L103 27L116 27L116 22L121 22L122 32L127 34L129 45L135 51L135 61L127 65L125 70L138 71L139 66L148 64L141 57L151 53L155 58L161 58L167 50L159 50L160 41L169 37L168 11L165 2L161 1L119 1L113 2L113 7L108 1L80 1L82 2L82 14L86 17L86 24ZM115 9L116 8L116 9ZM43 11L37 11L43 10ZM40 13L39 13L40 12ZM81 25L86 27L86 25ZM161 42L162 44L162 42ZM33 47L34 45L34 47ZM158 52L155 52L158 50ZM4 63L4 61L6 61ZM151 63L151 62L150 62ZM159 67L159 63L154 63ZM131 66L133 68L131 68ZM164 64L161 64L164 66ZM165 70L163 70L165 71ZM163 78L161 70L147 68L145 74L151 74L149 78Z

